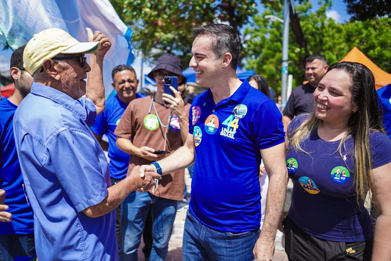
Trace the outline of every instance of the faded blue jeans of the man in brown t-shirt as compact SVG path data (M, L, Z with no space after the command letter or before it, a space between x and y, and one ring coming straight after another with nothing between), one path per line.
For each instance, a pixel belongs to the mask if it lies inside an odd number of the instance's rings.
M153 221L149 260L166 259L178 200L135 191L130 193L121 205L121 261L137 260L137 248L140 246L149 206Z

